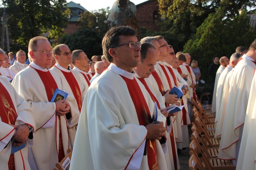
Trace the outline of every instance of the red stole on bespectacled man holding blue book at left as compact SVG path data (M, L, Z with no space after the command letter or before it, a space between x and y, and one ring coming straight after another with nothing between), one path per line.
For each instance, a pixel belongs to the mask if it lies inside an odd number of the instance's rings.
M37 71L40 79L42 80L42 82L44 84L44 88L45 88L45 91L46 91L46 95L47 95L48 101L51 101L51 99L53 97L53 94L54 94L54 91L58 88L58 85L55 82L52 74L50 73L50 71L46 71L45 72L45 71L41 71L41 70L38 70L38 69L35 69L35 68L33 68L33 69L35 71ZM59 124L58 124L58 126L59 126L58 127L59 128L59 145L58 145L59 146L59 152L58 152L58 159L59 159L59 162L60 162L61 159L63 159L63 157L65 157L65 154L64 154L62 135L61 135L60 116L56 117L56 123L55 123L56 124L56 129L57 129L57 119L59 120ZM57 138L57 136L56 136L56 138ZM56 141L57 141L57 139L56 139Z

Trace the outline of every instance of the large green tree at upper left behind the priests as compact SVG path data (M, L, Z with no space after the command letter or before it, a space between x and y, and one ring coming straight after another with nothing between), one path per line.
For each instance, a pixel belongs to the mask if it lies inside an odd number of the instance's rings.
M63 11L66 0L8 0L6 13L13 44L11 49L25 50L32 37L49 33L48 38L57 40L65 35L69 10Z

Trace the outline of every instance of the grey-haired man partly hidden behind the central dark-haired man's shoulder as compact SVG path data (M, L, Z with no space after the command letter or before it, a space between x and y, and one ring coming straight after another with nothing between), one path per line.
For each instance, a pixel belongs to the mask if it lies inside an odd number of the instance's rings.
M78 71L83 75L84 80L86 81L85 85L87 89L91 85L88 79L90 76L84 71L89 68L88 61L89 59L83 50L74 50L72 52L72 64L74 65L73 70Z

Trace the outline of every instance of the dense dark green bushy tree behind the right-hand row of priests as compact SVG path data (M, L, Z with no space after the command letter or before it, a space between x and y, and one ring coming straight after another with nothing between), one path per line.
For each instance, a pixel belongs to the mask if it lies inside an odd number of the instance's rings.
M216 13L210 14L197 29L193 39L184 46L184 52L188 52L192 60L199 61L204 80L208 80L208 68L213 57L230 58L238 46L249 47L256 37L245 11L233 19L227 18L226 13L220 7Z

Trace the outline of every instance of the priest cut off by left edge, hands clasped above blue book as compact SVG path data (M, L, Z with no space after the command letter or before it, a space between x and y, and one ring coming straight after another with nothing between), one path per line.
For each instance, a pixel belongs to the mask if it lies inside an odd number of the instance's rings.
M4 54L0 49L1 58ZM28 146L33 145L35 130L31 108L6 77L0 76L0 89L0 169L30 169ZM11 154L12 145L16 148L24 143L25 148Z

